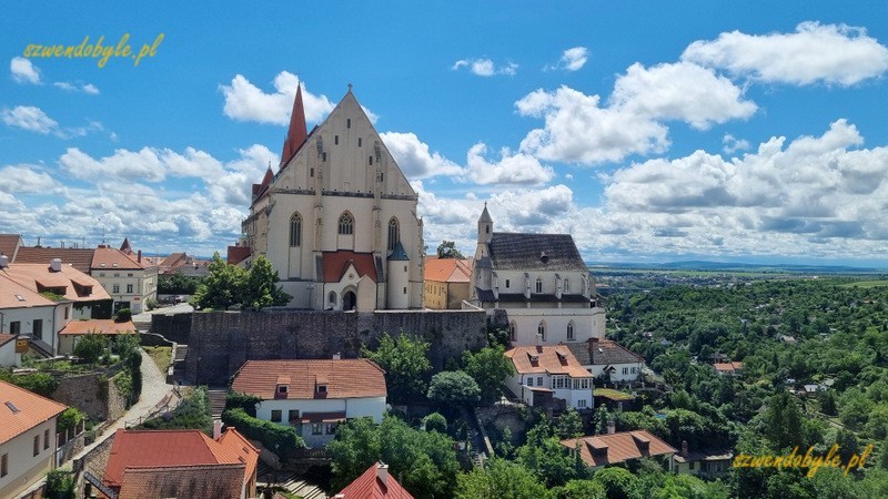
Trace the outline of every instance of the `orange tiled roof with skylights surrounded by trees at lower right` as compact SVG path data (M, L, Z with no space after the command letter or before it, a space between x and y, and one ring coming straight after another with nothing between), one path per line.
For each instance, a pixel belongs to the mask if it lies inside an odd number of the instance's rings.
M561 444L568 449L576 449L578 444L579 456L592 467L677 452L673 446L646 430L569 438Z

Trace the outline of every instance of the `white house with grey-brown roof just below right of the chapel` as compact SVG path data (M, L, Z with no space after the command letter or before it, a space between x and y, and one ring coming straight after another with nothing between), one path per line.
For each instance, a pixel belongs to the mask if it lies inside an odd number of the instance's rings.
M584 369L610 381L636 381L645 367L644 357L610 339L589 338L567 347Z

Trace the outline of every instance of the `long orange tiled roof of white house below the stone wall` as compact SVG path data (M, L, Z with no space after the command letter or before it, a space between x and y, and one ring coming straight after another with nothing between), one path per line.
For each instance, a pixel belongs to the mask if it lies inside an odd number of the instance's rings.
M274 399L278 378L291 379L289 399L315 398L316 379L326 378L324 398L385 397L384 371L365 358L341 360L248 360L231 389ZM323 384L323 381L321 381Z

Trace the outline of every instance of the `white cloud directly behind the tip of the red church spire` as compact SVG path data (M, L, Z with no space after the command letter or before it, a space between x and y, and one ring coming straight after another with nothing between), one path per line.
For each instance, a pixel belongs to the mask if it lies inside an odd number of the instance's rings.
M225 96L223 111L226 116L238 121L286 125L290 123L297 86L299 78L282 71L274 77L274 93L263 92L241 74L231 80L231 85L219 85L219 89ZM305 106L305 120L312 123L321 122L334 108L326 95L309 92L304 83L302 101Z

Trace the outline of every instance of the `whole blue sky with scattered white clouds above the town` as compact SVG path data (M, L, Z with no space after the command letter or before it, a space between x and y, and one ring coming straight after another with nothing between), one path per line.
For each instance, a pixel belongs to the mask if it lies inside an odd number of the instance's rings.
M301 80L310 126L354 84L433 249L486 201L589 262L888 265L881 2L182 3L6 9L0 232L224 251Z

